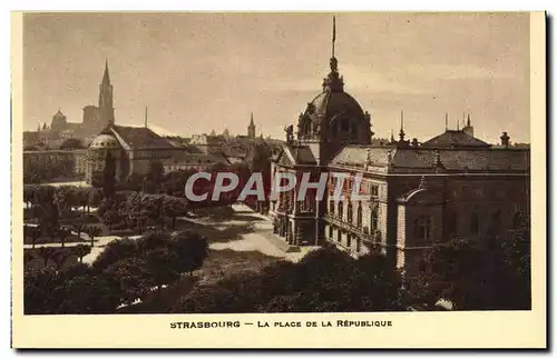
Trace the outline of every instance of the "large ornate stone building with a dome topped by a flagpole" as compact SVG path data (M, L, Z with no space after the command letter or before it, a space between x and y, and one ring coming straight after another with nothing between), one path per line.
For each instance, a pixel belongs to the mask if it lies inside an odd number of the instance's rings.
M317 200L315 188L300 196L297 183L271 198L280 247L333 243L354 257L379 249L412 277L437 243L508 238L528 226L521 219L529 216L529 148L510 146L507 132L500 146L475 138L470 118L461 129L447 126L430 140L410 140L403 112L399 139L391 133L390 141L378 141L370 114L344 91L334 40L333 22L331 71L297 127L285 128L286 143L271 167L273 177L326 179L324 196Z

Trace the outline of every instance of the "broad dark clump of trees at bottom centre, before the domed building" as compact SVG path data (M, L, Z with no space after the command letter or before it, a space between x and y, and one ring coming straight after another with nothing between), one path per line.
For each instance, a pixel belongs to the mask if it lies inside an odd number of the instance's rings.
M334 248L198 286L176 312L331 312L401 310L402 281L380 255L354 260ZM209 311L213 310L213 311Z

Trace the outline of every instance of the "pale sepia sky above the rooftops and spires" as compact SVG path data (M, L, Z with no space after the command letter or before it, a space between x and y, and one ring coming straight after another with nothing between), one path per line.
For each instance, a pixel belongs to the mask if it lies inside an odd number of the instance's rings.
M529 142L526 13L335 13L344 90L372 117L375 137L424 141L470 113L476 137L507 131ZM27 13L23 124L60 109L80 122L97 104L105 60L117 124L189 137L284 127L322 90L332 13Z

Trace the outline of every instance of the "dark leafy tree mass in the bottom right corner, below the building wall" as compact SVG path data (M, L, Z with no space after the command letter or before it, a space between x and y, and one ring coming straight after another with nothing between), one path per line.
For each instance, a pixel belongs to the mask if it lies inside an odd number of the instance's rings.
M455 239L433 247L421 261L411 298L430 305L443 298L459 310L529 309L526 237Z

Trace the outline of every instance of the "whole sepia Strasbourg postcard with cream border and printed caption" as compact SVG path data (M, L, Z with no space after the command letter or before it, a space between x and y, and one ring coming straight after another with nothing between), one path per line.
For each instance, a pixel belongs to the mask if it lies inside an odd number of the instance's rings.
M546 13L12 13L13 348L547 347Z

